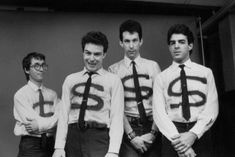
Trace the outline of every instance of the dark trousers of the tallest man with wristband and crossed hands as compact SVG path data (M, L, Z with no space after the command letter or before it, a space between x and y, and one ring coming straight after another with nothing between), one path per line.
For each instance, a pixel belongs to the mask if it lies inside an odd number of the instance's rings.
M143 125L141 125L138 122L129 122L129 123L132 129L135 131L136 135L141 136L151 131L153 121L149 121L148 124L146 124L145 128L143 128ZM138 150L134 148L134 146L132 146L126 134L123 135L122 145L120 149L120 157L160 157L160 153L161 153L160 134L158 134L154 143L151 144L151 146L148 148L148 151L145 152L144 154L140 153Z

